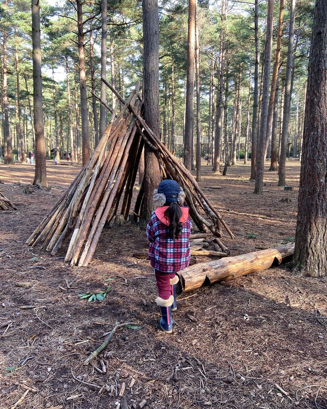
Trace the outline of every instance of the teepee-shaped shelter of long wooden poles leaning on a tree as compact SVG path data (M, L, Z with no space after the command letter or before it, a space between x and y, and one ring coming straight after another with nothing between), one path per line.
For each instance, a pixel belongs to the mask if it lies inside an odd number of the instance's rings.
M43 249L56 255L70 237L65 261L70 261L71 265L78 263L79 266L90 263L103 227L110 224L119 211L120 204L119 216L125 220L129 216L144 143L156 151L160 158L162 178L177 180L183 187L190 216L199 230L211 231L221 237L224 226L233 238L226 223L208 202L192 174L168 151L142 119L139 82L128 101L125 101L105 79L102 80L118 99L110 124L90 161L83 166L29 237L27 245L35 247L42 243ZM123 107L117 116L119 101L123 103ZM136 221L142 216L143 194L142 184L133 212Z

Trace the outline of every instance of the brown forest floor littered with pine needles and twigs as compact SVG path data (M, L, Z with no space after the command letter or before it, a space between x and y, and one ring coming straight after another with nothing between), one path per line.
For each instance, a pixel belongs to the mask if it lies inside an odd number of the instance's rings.
M327 408L327 319L317 319L327 316L327 279L292 275L286 265L182 294L165 335L153 270L132 257L147 247L136 226L104 229L87 267L64 263L64 250L54 258L25 245L79 169L48 162L52 190L27 196L34 167L0 165L0 190L18 207L0 214L1 408L23 395L26 408ZM287 162L288 192L277 172L265 172L268 192L255 196L249 165L227 177L203 167L204 193L236 236L222 239L231 255L294 237L299 172ZM208 190L215 185L224 189ZM104 302L78 298L108 284ZM141 328L116 333L102 353L106 373L99 358L84 366L117 321ZM100 394L102 385L110 392Z

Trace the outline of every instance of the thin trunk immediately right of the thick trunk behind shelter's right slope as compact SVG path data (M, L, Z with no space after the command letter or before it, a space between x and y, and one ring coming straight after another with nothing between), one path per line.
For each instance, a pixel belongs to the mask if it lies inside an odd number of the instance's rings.
M195 67L197 78L197 149L196 168L197 182L201 182L201 124L200 124L200 51L199 51L199 26L198 26L197 0L195 0ZM218 168L219 169L219 168Z

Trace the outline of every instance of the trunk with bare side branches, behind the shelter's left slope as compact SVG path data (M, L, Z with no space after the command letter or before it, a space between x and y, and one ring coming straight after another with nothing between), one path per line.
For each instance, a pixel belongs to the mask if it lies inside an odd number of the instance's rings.
M86 95L86 71L85 71L85 53L84 53L84 27L83 27L83 0L76 0L77 8L77 38L78 38L78 61L79 61L79 79L81 92L81 121L82 121L82 157L83 166L90 159L90 130L87 112ZM101 81L102 82L102 81Z

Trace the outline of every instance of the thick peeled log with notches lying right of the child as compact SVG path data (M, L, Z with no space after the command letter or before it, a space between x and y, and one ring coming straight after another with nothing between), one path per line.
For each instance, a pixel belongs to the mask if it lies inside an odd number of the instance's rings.
M280 265L292 256L294 243L267 250L199 263L178 273L177 293L195 290L204 285L227 281ZM223 253L225 256L226 254Z

